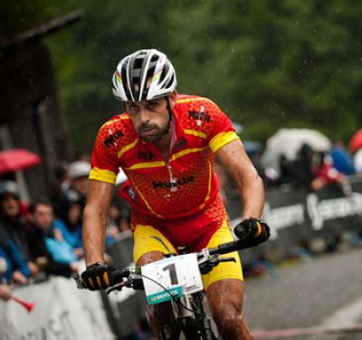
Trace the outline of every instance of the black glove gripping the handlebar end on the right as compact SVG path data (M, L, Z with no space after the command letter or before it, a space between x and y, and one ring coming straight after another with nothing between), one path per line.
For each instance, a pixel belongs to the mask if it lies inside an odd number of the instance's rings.
M244 219L234 229L234 234L248 247L265 242L271 236L269 226L260 219Z

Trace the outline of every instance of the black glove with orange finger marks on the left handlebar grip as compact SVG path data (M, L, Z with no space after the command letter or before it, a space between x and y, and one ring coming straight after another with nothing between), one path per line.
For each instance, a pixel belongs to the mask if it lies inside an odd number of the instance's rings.
M83 286L90 290L100 290L112 287L115 285L113 276L115 270L115 268L102 265L99 262L94 263L81 273Z

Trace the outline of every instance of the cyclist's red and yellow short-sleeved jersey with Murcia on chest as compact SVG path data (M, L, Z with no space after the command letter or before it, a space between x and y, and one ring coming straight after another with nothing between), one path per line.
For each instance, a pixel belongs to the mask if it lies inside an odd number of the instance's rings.
M90 180L129 181L119 189L132 208L157 219L179 219L205 209L218 193L214 152L238 139L230 119L206 98L180 95L173 108L176 137L169 160L143 141L127 112L107 121L91 156Z

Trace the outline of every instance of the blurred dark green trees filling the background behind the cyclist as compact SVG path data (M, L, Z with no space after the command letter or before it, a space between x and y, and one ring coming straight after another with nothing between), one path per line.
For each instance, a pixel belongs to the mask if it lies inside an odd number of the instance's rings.
M310 127L348 141L362 126L360 1L29 3L5 5L15 20L2 20L3 36L85 11L47 42L71 137L86 150L100 124L122 109L110 83L119 59L149 47L175 64L179 92L211 98L243 124L245 139Z

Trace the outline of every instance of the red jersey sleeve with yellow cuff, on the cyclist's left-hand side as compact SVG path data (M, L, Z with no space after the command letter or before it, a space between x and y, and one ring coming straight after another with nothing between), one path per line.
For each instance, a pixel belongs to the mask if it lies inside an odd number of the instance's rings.
M100 128L91 152L90 180L116 183L117 174L119 173L119 160L117 149L113 144L117 140L119 133L108 123Z

